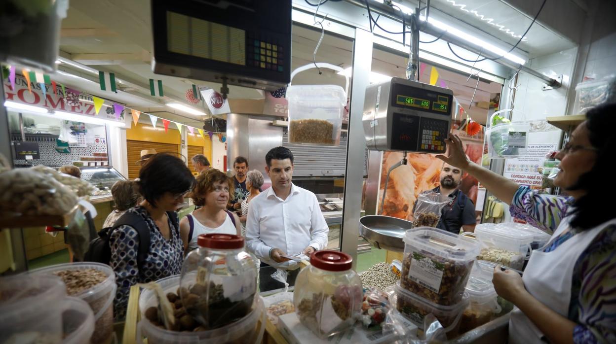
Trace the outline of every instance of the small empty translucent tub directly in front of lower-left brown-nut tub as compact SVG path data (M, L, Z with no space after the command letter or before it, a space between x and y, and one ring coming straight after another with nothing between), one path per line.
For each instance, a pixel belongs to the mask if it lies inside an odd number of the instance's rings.
M94 334L94 313L84 300L68 298L68 309L62 313L64 340L62 344L90 343Z

